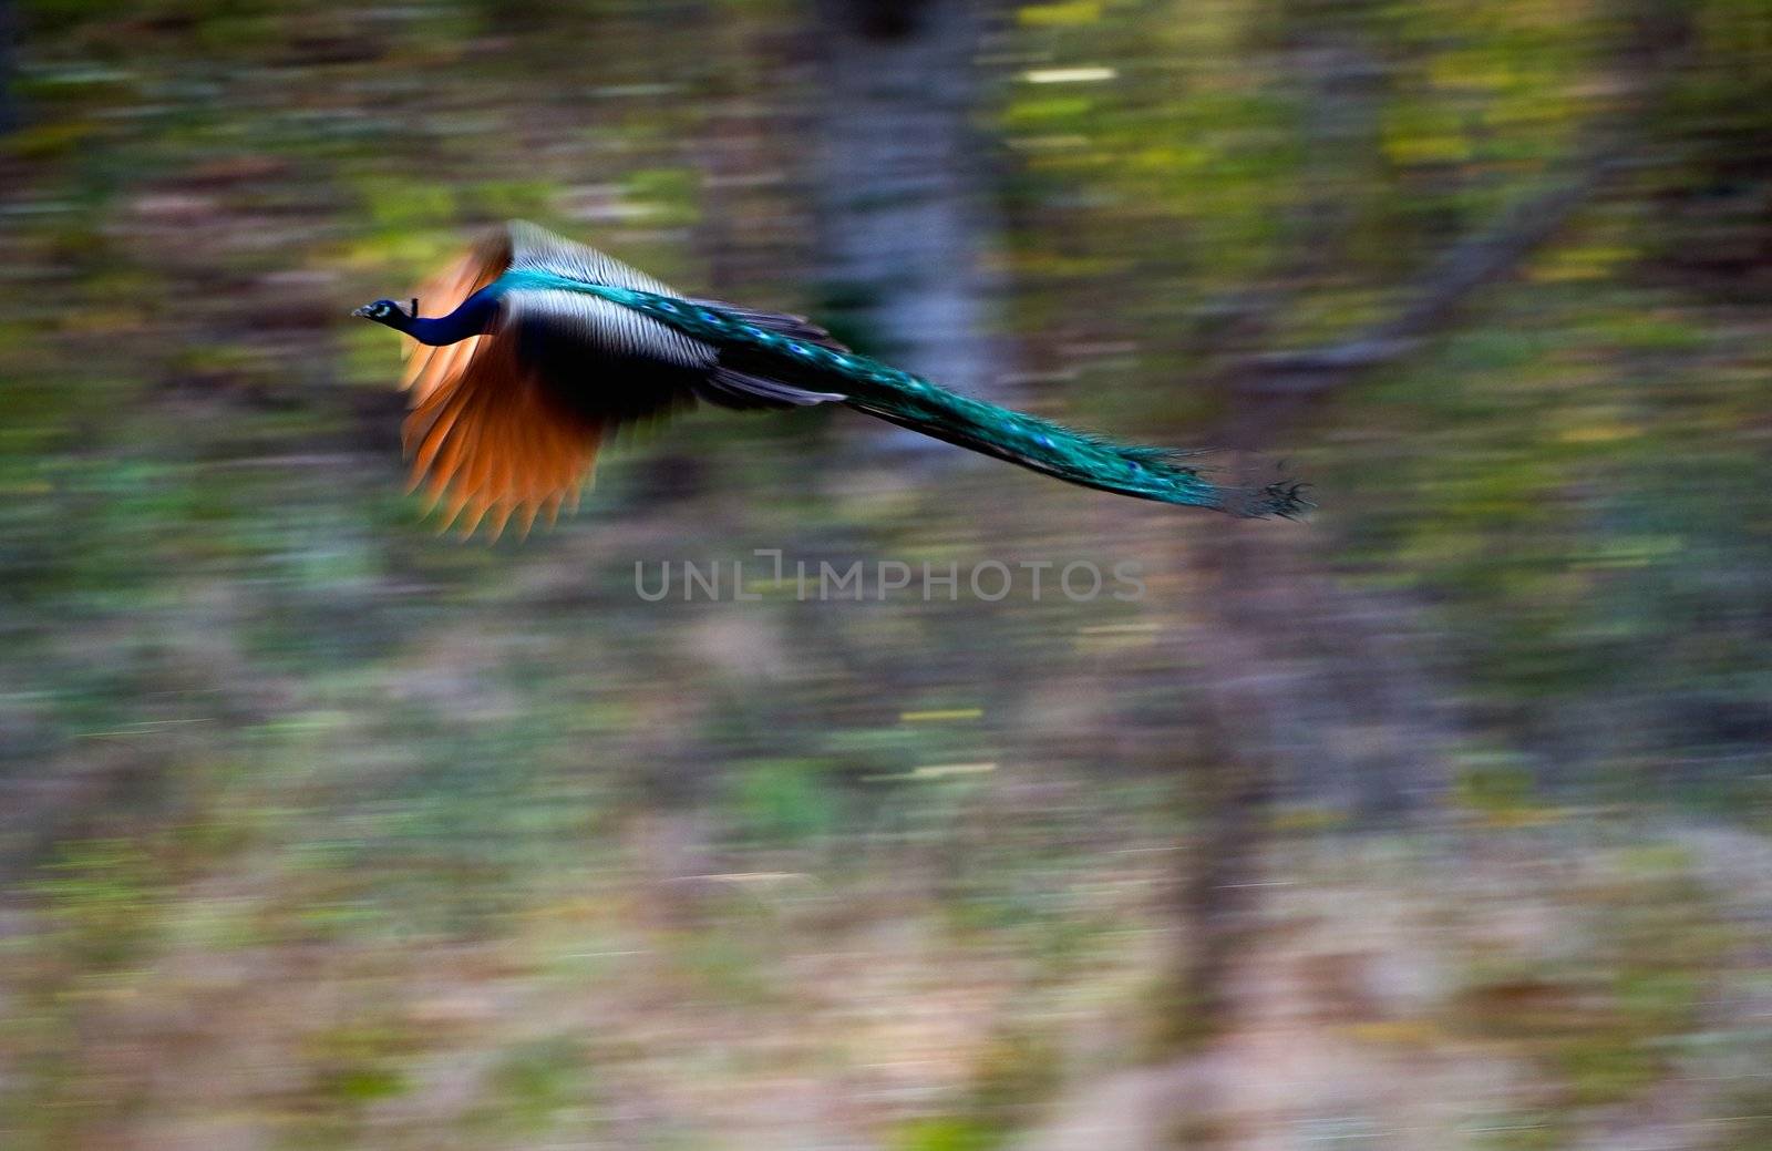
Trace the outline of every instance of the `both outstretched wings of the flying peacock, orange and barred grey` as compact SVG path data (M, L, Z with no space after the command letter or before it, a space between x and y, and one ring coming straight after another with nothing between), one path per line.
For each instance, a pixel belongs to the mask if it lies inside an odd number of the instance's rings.
M595 248L514 222L432 280L422 296L425 310L447 314L507 270L680 298ZM797 317L732 312L804 325ZM459 521L462 534L482 521L496 536L512 520L521 530L537 516L553 520L562 504L578 502L610 433L686 408L696 397L727 408L842 399L723 364L721 349L709 342L567 289L512 291L500 301L493 333L447 348L413 348L406 369L411 411L402 429L413 488L424 484L432 505L445 509L445 529Z

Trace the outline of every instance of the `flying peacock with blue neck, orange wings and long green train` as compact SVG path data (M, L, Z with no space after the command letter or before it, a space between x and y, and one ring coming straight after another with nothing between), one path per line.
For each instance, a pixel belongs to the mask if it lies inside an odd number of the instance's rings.
M445 314L420 317L420 300ZM353 312L411 337L402 440L413 488L443 525L528 530L578 493L611 431L693 404L737 410L840 403L1072 484L1233 516L1294 518L1292 481L1219 486L1200 452L1084 435L968 399L856 355L799 316L675 293L595 248L512 222L422 289L411 310Z

